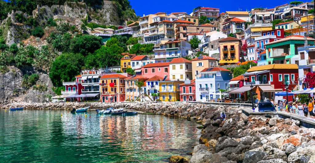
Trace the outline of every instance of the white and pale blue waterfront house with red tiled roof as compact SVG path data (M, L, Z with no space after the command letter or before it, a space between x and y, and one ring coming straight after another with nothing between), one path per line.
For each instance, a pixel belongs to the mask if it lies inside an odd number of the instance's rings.
M205 68L196 78L196 100L211 101L221 98L220 90L227 90L232 79L230 70L221 67Z

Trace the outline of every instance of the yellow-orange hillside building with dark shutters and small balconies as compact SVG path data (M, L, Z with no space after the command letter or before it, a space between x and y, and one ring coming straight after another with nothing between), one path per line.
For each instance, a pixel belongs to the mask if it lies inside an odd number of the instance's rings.
M220 44L220 65L230 65L240 60L241 40L234 37L219 39Z

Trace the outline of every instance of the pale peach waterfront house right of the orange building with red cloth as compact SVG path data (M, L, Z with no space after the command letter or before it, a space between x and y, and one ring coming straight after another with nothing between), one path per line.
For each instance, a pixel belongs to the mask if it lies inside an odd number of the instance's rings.
M146 80L148 78L142 76L142 75L135 75L135 76L131 76L128 78L125 78L125 83L126 83L126 100L130 100L130 101L135 101L137 99L137 97L139 97L141 94L145 94L146 93L146 88L142 89L142 88L138 88L137 86L137 81L142 81L144 85L142 86L146 86Z

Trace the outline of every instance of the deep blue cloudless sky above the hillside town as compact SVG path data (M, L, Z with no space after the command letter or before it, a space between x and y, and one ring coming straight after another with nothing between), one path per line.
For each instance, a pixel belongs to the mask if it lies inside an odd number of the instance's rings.
M216 0L216 1L194 1L194 0L129 0L130 4L137 15L143 16L143 14L155 14L157 12L187 12L190 14L192 9L198 6L201 7L213 7L220 8L220 13L225 11L238 11L238 8L242 11L250 10L251 8L263 7L274 8L275 6L282 5L293 0ZM311 0L310 0L311 1ZM306 1L303 1L306 2Z

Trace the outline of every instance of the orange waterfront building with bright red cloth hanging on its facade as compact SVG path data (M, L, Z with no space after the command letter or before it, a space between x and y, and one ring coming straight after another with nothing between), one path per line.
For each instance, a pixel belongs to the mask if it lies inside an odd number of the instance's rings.
M125 79L129 73L106 74L100 78L100 101L123 102L126 99Z

